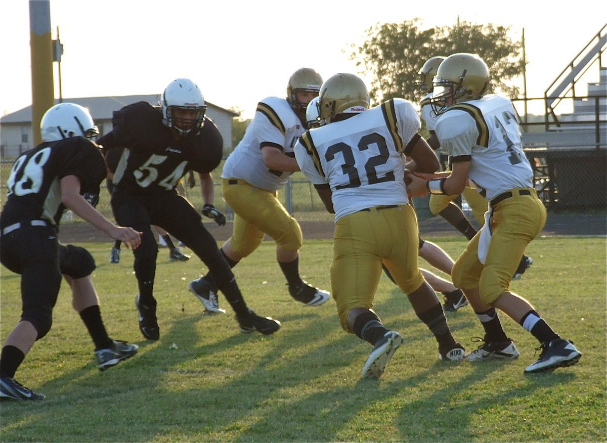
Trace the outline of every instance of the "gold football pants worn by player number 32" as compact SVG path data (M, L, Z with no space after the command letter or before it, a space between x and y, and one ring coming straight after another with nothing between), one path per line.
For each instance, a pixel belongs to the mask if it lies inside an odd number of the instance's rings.
M344 330L348 311L373 307L382 261L409 294L424 277L418 268L418 225L410 205L370 208L337 220L331 265L331 292Z

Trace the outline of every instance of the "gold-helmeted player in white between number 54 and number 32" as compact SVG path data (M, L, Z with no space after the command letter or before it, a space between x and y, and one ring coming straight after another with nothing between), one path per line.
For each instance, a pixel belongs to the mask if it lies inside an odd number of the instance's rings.
M233 268L257 249L268 234L276 242L276 260L287 279L291 296L307 306L325 303L331 294L308 285L299 275L302 231L295 218L278 199L293 172L299 171L293 146L307 129L305 111L318 96L320 75L300 68L291 75L287 98L266 97L257 104L240 143L223 165L223 199L234 211L232 237L221 252ZM209 272L189 283L190 290L205 299L217 297L217 286Z

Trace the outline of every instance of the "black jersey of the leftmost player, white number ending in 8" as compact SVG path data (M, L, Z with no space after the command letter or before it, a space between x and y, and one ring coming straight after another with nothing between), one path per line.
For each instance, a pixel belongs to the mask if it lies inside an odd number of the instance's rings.
M0 227L44 219L58 225L61 217L61 179L75 175L80 193L99 193L106 165L98 146L84 137L43 142L24 152L10 171L6 205Z

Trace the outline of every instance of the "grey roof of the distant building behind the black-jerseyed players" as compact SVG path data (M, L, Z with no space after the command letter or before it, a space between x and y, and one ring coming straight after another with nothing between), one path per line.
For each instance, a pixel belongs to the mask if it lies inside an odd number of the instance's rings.
M80 98L64 98L64 102L80 104L89 109L93 120L111 120L112 112L120 109L123 106L138 101L147 101L152 105L157 105L160 100L160 94L149 95L124 95L111 97L80 97ZM55 99L55 103L59 103L59 99ZM206 106L222 110L223 112L231 113L234 117L239 113L230 109L225 109L215 104L206 101ZM32 121L32 106L24 107L18 111L4 115L0 118L0 123L30 123Z

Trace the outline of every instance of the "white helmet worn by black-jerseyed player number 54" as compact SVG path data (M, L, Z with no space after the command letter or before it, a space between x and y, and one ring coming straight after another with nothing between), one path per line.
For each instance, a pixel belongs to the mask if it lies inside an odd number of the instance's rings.
M169 83L160 98L160 106L162 106L162 123L180 137L185 137L191 132L198 134L205 121L205 98L200 88L188 78L177 78ZM175 108L195 110L196 117L194 120L177 118L173 115Z

